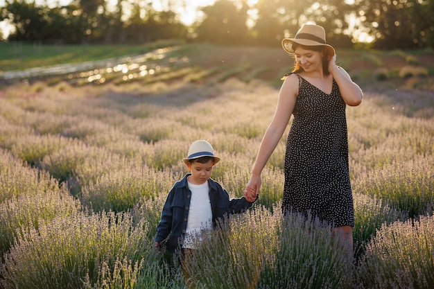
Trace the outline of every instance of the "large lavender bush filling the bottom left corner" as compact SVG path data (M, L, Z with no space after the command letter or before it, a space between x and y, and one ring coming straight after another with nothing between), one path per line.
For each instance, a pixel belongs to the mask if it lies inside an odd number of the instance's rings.
M144 239L147 226L133 227L128 213L76 213L54 218L38 229L23 229L5 255L2 283L6 288L48 289L82 288L84 283L104 284L105 279L114 284L132 282L136 278L120 278L116 270L127 265L126 272L139 273L150 248Z

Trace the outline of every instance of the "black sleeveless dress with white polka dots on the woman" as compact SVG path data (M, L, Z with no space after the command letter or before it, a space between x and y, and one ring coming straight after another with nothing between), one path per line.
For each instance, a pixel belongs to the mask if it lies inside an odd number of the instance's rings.
M354 226L346 104L333 79L326 94L300 77L285 155L282 209L312 213L333 227Z

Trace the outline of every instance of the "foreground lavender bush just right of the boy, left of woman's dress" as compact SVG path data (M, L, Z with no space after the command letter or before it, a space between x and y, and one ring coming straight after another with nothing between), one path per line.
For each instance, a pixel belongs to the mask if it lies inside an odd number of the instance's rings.
M269 241L277 238L277 223L269 211L259 208L222 220L220 229L211 231L196 252L186 256L186 283L197 288L255 288L262 259L272 254Z

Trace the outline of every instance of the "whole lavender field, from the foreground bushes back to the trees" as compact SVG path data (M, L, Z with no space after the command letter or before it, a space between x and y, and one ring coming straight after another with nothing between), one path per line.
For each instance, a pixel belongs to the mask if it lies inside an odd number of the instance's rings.
M257 203L192 262L198 288L434 287L434 53L337 55L365 92L347 107L354 263L327 226L282 220L286 130ZM291 66L279 48L1 44L1 286L182 288L151 249L181 159L207 139L241 196Z

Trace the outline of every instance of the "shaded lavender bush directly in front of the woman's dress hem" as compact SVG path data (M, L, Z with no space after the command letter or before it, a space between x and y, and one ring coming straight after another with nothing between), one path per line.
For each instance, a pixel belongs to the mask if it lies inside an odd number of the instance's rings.
M257 288L349 288L351 249L318 220L290 213Z

